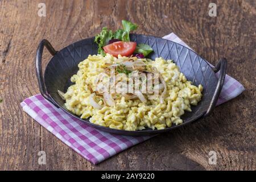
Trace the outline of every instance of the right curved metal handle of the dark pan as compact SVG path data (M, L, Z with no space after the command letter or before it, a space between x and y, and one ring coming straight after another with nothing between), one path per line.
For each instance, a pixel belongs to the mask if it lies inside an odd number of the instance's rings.
M213 71L217 73L220 71L220 76L218 78L218 83L215 89L215 92L212 97L212 101L210 101L210 106L207 110L207 112L204 114L204 117L207 117L210 113L212 113L214 107L216 106L216 103L218 101L218 97L220 96L222 86L224 85L224 80L226 76L226 68L227 68L227 61L226 58L222 57L216 66L213 68Z

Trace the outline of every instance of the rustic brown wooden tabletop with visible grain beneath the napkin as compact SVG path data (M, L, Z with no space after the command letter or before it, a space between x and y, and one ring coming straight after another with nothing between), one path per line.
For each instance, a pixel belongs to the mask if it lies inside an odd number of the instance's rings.
M46 3L46 17L38 3ZM208 15L217 3L217 17ZM122 19L138 33L175 32L210 63L228 59L228 74L246 88L205 119L159 135L94 166L22 111L20 102L39 93L34 58L41 39L56 49L113 30ZM51 56L44 56L44 66ZM256 124L256 1L0 1L0 169L253 169ZM46 151L47 164L38 164ZM209 151L217 164L208 163Z

